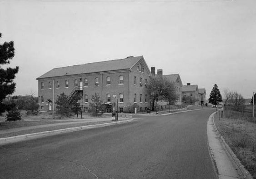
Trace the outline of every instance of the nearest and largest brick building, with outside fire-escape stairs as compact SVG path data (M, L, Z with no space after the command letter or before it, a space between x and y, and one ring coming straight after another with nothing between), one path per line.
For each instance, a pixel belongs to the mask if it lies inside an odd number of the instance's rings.
M58 95L64 92L70 97L79 92L86 111L96 92L107 111L116 106L117 99L120 111L132 104L139 105L138 111L145 110L150 107L150 75L143 56L55 68L36 79L40 109L55 110Z

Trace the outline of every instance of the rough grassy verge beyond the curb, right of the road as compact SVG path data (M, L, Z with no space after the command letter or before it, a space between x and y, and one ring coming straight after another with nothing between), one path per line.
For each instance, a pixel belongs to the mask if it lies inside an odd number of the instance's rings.
M214 118L216 127L226 143L256 179L256 123L243 118L221 118L219 121L218 115Z

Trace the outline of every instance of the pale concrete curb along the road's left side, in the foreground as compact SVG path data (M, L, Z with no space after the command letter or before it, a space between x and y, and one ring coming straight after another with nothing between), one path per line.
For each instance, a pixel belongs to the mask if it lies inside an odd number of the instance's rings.
M122 124L122 123L131 122L131 121L134 121L134 119L121 120L121 121L104 123L104 124L85 125L85 126L72 127L72 128L66 128L66 129L50 130L50 131L33 133L33 134L17 135L17 136L12 136L12 137L5 137L5 138L0 138L0 145L15 143L15 142L23 141L23 140L27 140L27 139L36 139L36 138L49 136L49 135L64 134L64 133L74 132L74 131L79 131L79 130L94 129L94 128L115 125L115 124Z

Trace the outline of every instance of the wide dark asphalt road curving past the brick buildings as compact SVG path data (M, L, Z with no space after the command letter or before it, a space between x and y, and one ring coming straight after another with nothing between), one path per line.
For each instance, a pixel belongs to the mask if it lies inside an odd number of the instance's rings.
M214 110L0 146L0 179L216 179L206 124Z

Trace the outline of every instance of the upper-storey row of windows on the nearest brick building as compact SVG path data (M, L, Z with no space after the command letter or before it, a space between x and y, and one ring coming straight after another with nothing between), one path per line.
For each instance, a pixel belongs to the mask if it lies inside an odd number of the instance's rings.
M80 82L81 83L81 82ZM119 76L119 81L118 83L120 85L123 85L124 84L124 77L123 75L120 75ZM96 77L95 78L95 86L98 86L99 85L99 78ZM106 85L111 85L111 80L110 80L110 76L106 77ZM137 85L137 78L136 76L134 77L134 85ZM140 85L142 86L142 78L140 78ZM84 86L88 86L88 79L85 78L84 80ZM147 86L147 79L145 79L145 86ZM68 88L69 87L69 81L68 80L65 80L65 88ZM78 80L76 79L74 81L74 87L78 87ZM45 84L44 82L41 83L41 89L44 89L45 88ZM48 83L48 89L51 89L52 88L52 83L51 81ZM60 81L56 81L56 88L60 88Z

